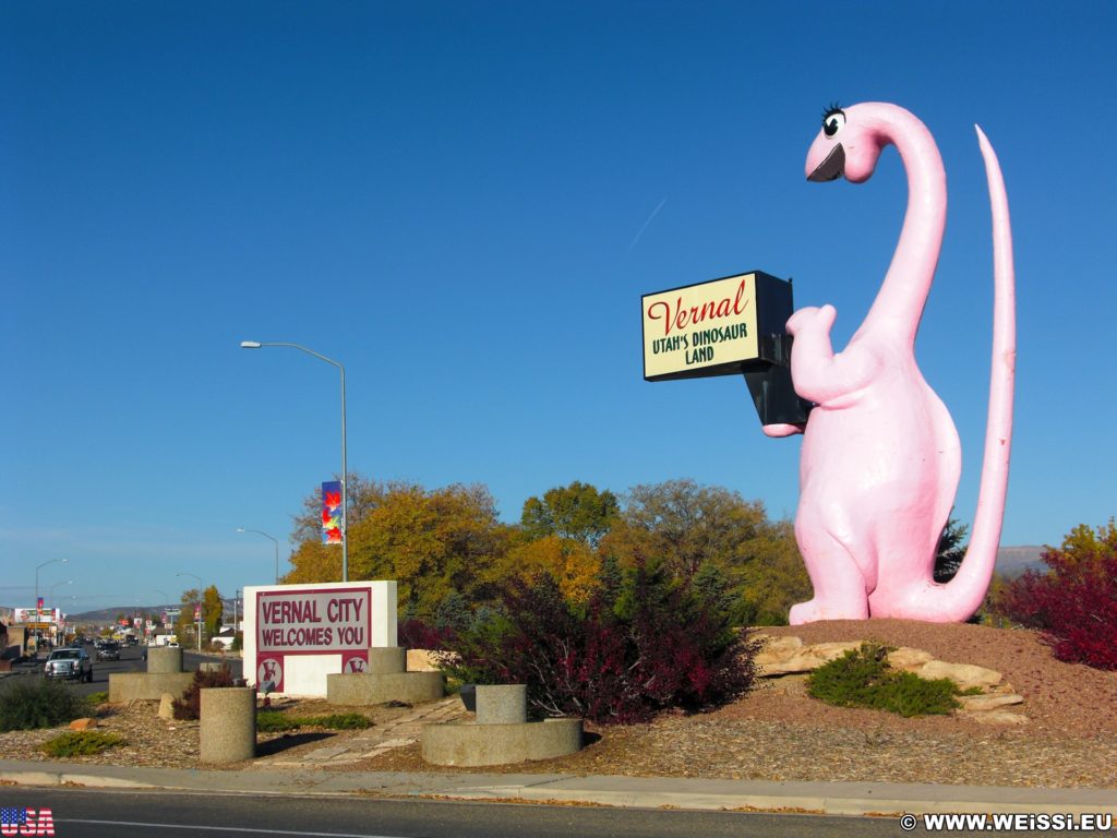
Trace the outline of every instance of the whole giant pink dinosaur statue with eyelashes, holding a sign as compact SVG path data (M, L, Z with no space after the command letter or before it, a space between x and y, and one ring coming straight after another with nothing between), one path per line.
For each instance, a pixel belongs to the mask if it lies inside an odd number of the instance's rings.
M803 434L795 537L814 598L791 609L791 623L900 617L961 621L981 606L1001 537L1015 365L1014 279L1009 203L1000 164L977 126L993 210L993 369L977 513L965 560L947 584L933 580L935 551L954 502L961 447L951 415L915 362L915 336L938 261L946 175L926 126L896 105L832 107L806 155L806 177L861 183L895 144L908 177L900 240L865 323L834 354L831 305L801 308L795 392L814 402Z

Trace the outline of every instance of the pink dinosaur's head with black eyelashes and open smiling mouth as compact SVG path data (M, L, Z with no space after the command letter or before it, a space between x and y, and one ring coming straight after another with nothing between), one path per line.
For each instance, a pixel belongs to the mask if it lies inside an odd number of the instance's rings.
M867 181L880 150L890 142L881 127L871 104L828 107L822 130L806 152L806 179L821 183L844 175L853 183Z

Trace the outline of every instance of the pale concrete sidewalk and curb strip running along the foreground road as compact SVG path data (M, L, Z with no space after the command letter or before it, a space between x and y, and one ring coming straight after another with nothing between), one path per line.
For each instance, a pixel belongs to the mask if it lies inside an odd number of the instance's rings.
M174 789L249 794L438 797L506 802L825 815L1114 812L1114 789L764 782L569 774L195 771L0 760L0 784Z

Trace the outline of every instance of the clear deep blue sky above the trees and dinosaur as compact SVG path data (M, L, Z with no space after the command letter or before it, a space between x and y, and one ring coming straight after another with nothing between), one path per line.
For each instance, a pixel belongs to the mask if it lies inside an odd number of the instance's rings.
M1115 512L1111 2L6 2L0 603L231 594L340 470L484 483L693 477L794 514L799 438L743 381L647 383L641 293L762 268L838 307L891 257L895 151L811 184L837 99L934 133L949 210L917 344L976 505L1004 170L1019 297L1002 543ZM70 600L71 593L78 599Z

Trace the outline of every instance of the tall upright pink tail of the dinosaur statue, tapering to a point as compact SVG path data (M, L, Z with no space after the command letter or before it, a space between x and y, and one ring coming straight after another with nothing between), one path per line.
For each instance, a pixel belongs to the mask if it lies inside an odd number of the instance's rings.
M953 621L965 620L981 608L993 578L1009 485L1012 396L1016 365L1016 295L1009 199L993 146L981 127L974 127L985 160L985 177L989 180L990 204L993 210L993 368L989 384L985 457L982 461L977 512L974 515L970 546L954 579L945 585L936 585L936 593L942 597L938 603L943 609L942 617Z

